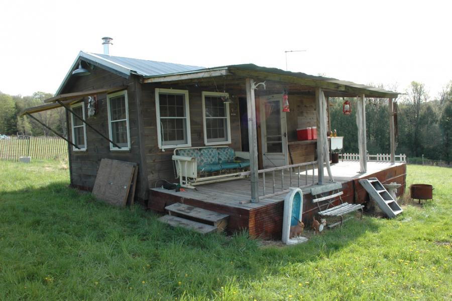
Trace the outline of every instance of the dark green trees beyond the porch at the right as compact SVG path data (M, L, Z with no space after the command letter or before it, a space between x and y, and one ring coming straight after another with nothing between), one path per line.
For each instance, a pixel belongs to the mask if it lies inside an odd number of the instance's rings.
M384 88L383 86L380 86ZM351 115L343 114L343 102L352 102ZM396 154L450 162L452 159L452 81L438 95L428 94L424 84L411 82L396 108ZM344 152L358 153L356 100L330 98L331 129L344 136ZM369 154L389 154L389 102L366 99L367 148Z

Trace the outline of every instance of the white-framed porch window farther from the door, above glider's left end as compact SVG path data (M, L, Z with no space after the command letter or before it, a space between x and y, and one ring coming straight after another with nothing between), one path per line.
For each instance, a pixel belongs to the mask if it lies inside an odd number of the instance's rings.
M155 89L160 148L191 146L188 91Z

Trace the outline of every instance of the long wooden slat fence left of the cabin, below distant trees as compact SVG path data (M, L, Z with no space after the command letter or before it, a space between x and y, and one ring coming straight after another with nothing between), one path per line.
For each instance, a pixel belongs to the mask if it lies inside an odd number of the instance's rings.
M0 160L67 158L67 142L60 137L11 136L0 140Z

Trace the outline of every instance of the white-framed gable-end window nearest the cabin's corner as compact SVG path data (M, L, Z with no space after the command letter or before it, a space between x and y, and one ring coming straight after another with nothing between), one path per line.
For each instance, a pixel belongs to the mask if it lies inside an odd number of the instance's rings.
M107 95L109 138L121 148L110 142L111 150L129 150L129 105L127 91Z

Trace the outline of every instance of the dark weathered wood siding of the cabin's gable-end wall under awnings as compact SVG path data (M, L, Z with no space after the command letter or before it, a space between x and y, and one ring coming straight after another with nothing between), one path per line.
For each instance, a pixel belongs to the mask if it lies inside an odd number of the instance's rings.
M74 187L91 190L94 186L94 181L97 174L100 161L103 158L135 162L139 166L139 176L137 183L136 196L142 200L147 198L147 183L143 185L143 173L145 169L141 164L140 155L140 136L139 136L139 112L137 109L137 102L141 95L137 94L137 89L140 88L136 78L125 79L114 73L108 72L101 68L95 68L90 75L82 77L72 77L62 93L79 92L84 90L128 86L127 96L129 105L129 126L130 126L130 139L131 149L122 150L110 150L109 142L102 138L99 134L94 132L91 128L86 126L87 147L86 151L74 151L73 147L70 147L70 173L71 184ZM84 100L85 106L85 119L94 128L100 131L105 136L109 136L108 133L108 112L106 103L106 94L97 95L97 114L88 118L87 110L87 98ZM69 114L68 118L68 132L69 137L72 140L71 118Z

